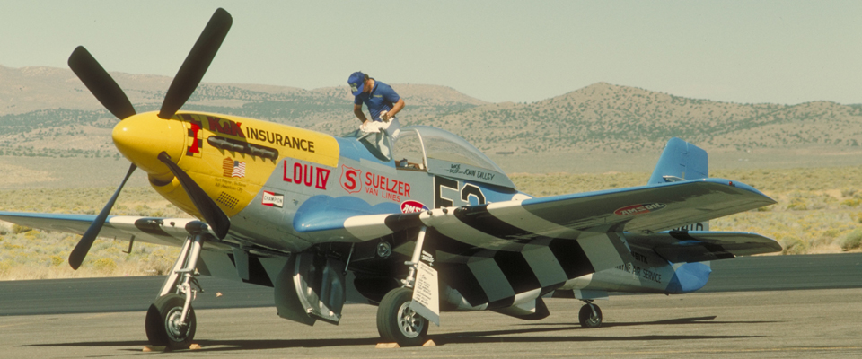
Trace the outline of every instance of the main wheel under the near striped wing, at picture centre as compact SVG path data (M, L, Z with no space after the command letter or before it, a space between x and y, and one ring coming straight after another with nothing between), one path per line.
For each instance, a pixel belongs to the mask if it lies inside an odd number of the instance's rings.
M377 307L377 332L384 342L399 346L421 346L428 334L428 320L408 308L413 291L396 288L383 296Z

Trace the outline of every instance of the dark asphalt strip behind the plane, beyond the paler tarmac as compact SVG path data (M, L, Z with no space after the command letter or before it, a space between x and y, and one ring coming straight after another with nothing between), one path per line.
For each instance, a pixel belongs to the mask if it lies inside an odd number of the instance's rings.
M699 291L862 288L862 253L734 258L712 262ZM272 288L207 276L196 309L272 306ZM0 281L0 316L145 311L163 276ZM216 293L224 295L216 297Z

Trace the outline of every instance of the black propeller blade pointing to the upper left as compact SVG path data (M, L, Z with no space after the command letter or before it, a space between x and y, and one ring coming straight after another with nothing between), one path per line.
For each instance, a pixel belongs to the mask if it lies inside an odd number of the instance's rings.
M135 107L128 101L126 93L119 88L113 78L90 52L83 46L75 48L69 56L69 67L72 68L81 82L90 89L96 100L119 119L128 118L135 114Z

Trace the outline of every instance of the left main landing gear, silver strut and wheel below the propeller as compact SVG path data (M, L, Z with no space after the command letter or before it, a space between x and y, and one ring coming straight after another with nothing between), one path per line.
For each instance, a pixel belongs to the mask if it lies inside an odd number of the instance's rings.
M200 248L206 235L196 234L186 239L158 299L146 311L146 337L152 346L188 349L195 337L198 320L191 302L195 300L198 290L203 292L196 278L195 267L198 266Z

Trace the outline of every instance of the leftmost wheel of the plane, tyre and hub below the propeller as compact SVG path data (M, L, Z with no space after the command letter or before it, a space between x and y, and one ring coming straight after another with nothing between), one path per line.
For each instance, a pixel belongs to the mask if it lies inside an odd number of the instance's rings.
M198 320L195 318L195 310L189 306L189 314L186 316L188 325L180 323L182 306L185 297L179 294L167 294L159 297L150 309L146 311L146 338L152 346L167 346L169 349L188 349L195 331L198 329Z

